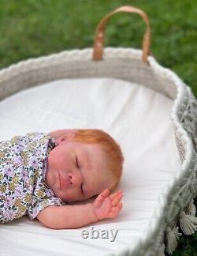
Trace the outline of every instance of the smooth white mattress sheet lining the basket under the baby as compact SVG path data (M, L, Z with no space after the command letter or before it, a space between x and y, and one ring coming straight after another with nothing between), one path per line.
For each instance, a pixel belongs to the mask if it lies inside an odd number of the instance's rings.
M0 224L1 255L102 256L132 250L154 216L159 194L180 170L172 106L173 100L158 92L110 78L54 81L0 102L0 140L32 131L92 127L111 134L125 155L119 186L123 209L116 219L51 230L24 216ZM83 239L81 232L91 229L108 231L109 239ZM112 229L118 229L113 242Z

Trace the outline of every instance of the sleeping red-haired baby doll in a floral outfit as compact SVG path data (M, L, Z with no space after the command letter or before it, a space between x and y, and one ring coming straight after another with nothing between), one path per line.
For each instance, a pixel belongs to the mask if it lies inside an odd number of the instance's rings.
M80 228L121 211L124 157L102 130L56 130L0 142L0 223L27 214L48 228ZM99 194L99 195L98 195ZM98 195L82 205L65 205Z

